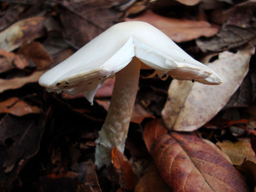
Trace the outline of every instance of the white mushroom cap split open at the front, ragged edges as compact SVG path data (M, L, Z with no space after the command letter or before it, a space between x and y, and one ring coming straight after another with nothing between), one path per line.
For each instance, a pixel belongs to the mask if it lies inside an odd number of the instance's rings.
M101 84L123 69L134 56L161 75L204 84L222 82L214 71L190 57L157 28L145 22L130 21L113 25L95 37L43 74L39 84L48 91L72 95L84 92L92 100Z

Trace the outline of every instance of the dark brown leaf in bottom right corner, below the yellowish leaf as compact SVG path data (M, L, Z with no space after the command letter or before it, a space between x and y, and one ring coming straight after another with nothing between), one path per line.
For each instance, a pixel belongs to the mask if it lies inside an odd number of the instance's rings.
M256 186L256 164L251 161L244 161L241 165L236 166L236 169L243 175L251 190Z

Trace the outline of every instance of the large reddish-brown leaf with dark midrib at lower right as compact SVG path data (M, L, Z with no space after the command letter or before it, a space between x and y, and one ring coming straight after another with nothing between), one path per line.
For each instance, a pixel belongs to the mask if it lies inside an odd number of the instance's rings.
M162 135L152 146L151 155L173 191L249 192L238 171L194 134Z

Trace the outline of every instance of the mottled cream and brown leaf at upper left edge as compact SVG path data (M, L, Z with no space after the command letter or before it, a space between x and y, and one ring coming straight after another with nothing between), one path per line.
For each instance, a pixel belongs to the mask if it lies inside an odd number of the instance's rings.
M0 33L0 49L8 52L20 47L25 41L32 41L45 35L44 17L20 20Z

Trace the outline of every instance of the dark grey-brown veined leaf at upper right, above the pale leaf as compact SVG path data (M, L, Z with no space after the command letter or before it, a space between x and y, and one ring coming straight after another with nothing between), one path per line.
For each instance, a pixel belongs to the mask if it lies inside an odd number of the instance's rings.
M256 36L256 28L242 28L234 25L223 25L216 36L197 39L196 44L202 50L222 51L246 44Z

